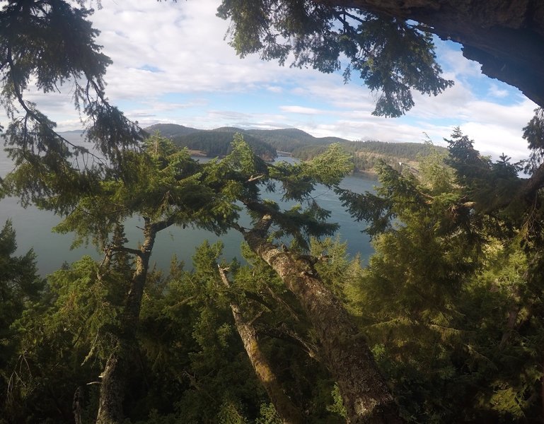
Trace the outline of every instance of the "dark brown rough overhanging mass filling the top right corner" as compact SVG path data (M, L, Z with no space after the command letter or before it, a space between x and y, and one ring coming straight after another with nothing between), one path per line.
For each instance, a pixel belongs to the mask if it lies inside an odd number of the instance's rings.
M415 20L463 45L482 72L519 88L544 107L542 0L314 0Z

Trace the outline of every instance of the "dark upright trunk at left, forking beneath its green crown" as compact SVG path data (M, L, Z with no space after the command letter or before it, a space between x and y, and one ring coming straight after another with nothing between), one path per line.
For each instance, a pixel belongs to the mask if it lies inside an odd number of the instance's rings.
M120 423L124 418L122 404L125 400L125 388L129 372L132 369L133 358L137 355L136 329L139 323L141 298L144 295L147 280L149 258L156 233L168 226L163 222L150 223L149 218L144 218L144 221L144 243L139 249L119 248L136 255L136 269L134 269L125 302L117 346L106 361L102 373L97 424Z

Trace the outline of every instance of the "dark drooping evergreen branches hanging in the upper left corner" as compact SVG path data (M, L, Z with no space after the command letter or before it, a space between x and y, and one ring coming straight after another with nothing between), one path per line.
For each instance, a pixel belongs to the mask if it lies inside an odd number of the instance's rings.
M57 213L70 211L106 174L125 178L125 155L143 136L105 98L103 76L111 61L96 44L92 10L84 3L9 1L0 9L0 102L10 119L4 141L16 167L3 191ZM25 99L31 83L43 93L71 86L86 139L101 155L55 131L57 124Z

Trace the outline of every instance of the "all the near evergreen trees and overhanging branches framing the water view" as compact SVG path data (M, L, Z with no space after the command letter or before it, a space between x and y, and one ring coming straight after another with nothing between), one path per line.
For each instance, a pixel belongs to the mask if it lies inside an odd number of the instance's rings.
M16 166L1 194L58 213L58 230L103 259L83 257L41 281L33 252L17 256L4 225L0 422L543 419L541 109L523 129L525 163L494 162L455 129L447 154L427 146L417 172L379 160L376 193L340 187L354 164L338 143L289 165L267 163L237 135L224 159L199 163L110 105L110 60L85 4L1 6L4 135ZM241 54L294 54L296 66L324 72L345 54L346 78L357 71L381 93L376 114L398 116L411 90L451 85L430 33L463 42L487 73L543 104L536 1L224 0L219 15L232 19ZM71 83L100 155L59 136L25 99L33 81L45 93ZM337 224L313 197L317 184L366 223L376 249L368 266L328 238ZM136 245L125 237L129 216L143 221ZM247 264L218 263L221 243L204 243L192 271L175 258L167 276L149 269L157 233L172 225L240 232Z

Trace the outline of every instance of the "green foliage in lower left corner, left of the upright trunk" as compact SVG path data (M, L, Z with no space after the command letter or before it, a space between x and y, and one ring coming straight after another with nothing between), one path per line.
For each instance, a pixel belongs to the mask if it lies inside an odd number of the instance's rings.
M112 276L98 278L97 269L83 257L52 274L44 295L11 326L17 350L8 368L8 422L69 422L76 390L83 414L95 406L94 387L84 387L96 382L112 347L107 335L121 302Z

